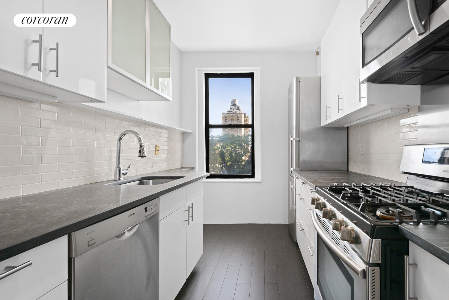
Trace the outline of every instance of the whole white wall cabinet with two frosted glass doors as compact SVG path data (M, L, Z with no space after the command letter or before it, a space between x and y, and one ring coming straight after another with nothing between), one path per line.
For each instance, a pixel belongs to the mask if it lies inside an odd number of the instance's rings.
M170 24L150 0L108 1L108 88L171 101Z

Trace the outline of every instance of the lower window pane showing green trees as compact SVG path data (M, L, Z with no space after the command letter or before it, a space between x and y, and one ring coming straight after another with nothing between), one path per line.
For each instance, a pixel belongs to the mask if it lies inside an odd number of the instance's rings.
M251 128L209 129L209 172L251 174L251 139Z

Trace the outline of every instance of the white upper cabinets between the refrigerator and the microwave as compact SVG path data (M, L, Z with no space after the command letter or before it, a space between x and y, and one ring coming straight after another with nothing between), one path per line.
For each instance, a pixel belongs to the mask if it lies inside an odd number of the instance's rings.
M321 40L321 126L358 126L421 104L420 86L360 83L365 11L366 1L341 0Z

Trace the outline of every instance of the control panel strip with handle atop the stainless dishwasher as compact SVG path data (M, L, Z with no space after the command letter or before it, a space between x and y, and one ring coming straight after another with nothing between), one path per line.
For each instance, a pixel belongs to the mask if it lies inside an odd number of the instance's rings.
M131 236L141 222L159 212L159 198L69 234L69 257L76 257L111 238ZM134 230L132 230L134 228Z

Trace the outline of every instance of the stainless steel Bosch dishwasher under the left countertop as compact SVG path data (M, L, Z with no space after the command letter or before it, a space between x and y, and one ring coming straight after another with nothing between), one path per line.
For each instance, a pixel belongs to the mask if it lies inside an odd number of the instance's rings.
M69 235L69 299L158 299L159 199Z

